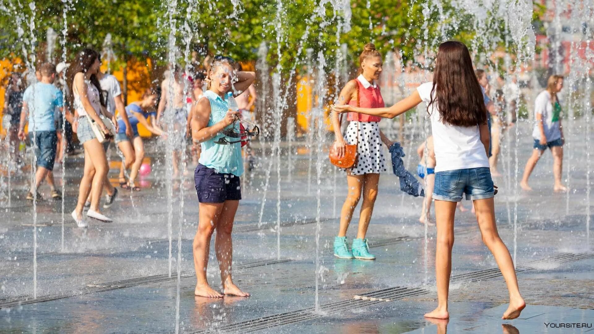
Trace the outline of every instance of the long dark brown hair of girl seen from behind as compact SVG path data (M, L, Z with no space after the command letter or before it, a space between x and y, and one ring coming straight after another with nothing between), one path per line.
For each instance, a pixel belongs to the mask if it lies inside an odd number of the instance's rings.
M481 85L462 42L448 40L437 51L428 112L433 103L437 103L444 124L473 127L487 121Z

